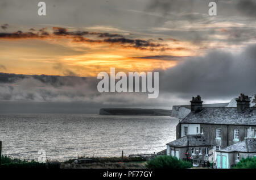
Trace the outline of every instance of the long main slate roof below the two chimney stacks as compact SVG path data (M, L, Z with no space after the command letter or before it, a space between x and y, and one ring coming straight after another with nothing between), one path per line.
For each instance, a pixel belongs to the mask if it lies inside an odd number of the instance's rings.
M190 112L181 123L256 125L256 108L238 112L236 107L202 108Z

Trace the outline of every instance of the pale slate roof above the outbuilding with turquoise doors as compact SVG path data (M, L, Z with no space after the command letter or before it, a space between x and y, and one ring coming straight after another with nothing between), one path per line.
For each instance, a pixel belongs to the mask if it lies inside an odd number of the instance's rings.
M256 152L256 139L246 139L236 144L230 145L218 152Z

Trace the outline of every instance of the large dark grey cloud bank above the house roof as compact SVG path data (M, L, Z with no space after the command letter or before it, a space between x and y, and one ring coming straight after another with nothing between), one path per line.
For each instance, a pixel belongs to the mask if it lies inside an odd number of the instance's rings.
M195 94L207 98L253 94L256 93L255 69L256 45L239 55L213 51L203 57L189 57L174 68L161 71L159 85L160 90L185 98Z

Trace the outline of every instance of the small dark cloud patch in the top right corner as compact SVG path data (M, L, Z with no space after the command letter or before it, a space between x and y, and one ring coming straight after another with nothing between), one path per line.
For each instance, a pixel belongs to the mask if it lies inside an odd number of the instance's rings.
M256 1L241 0L237 3L237 10L240 11L243 15L256 18Z

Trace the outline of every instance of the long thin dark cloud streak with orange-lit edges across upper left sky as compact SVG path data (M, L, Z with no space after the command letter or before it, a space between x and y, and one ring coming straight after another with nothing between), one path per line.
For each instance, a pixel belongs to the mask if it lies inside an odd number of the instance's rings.
M110 34L104 32L89 32L89 31L69 31L63 27L53 27L53 33L46 31L47 28L42 28L38 32L6 32L0 33L0 39L54 39L55 37L65 37L76 43L107 43L121 45L123 48L135 48L148 51L182 51L186 48L170 48L166 44L152 42L152 40L129 39L120 34ZM84 37L86 35L97 36L99 39L90 39ZM103 38L103 39L102 39Z

